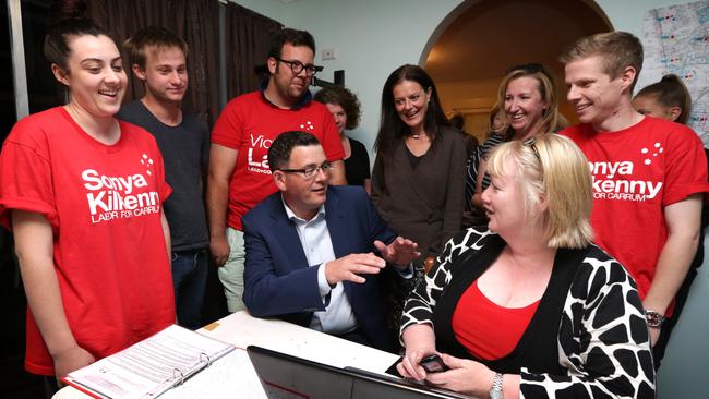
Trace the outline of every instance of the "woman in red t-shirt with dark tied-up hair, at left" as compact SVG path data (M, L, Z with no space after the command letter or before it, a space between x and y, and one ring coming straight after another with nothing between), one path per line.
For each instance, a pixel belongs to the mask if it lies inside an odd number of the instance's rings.
M128 80L113 40L65 19L49 28L45 56L70 101L22 119L5 140L0 221L29 306L25 366L60 378L175 322L161 208L170 188L155 140L113 118Z

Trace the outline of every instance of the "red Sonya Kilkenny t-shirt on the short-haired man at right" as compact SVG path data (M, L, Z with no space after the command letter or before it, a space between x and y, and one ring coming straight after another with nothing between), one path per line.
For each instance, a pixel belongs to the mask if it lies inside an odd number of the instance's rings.
M579 124L561 134L589 161L596 243L626 267L644 299L668 239L664 207L709 192L701 142L689 128L652 117L617 132Z

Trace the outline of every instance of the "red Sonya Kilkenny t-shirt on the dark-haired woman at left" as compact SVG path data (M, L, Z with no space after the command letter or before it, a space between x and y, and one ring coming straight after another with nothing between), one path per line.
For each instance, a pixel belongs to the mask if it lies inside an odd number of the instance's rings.
M9 210L21 209L50 222L69 327L96 359L175 323L163 157L143 129L120 122L120 130L105 145L52 108L19 121L0 154L0 221L10 228ZM29 310L25 367L53 374Z

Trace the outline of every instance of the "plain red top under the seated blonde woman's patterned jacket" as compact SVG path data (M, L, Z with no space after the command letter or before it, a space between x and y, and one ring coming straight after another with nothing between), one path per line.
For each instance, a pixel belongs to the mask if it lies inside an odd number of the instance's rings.
M500 306L480 291L476 280L458 301L453 330L472 355L500 359L517 347L538 305L539 301L525 307Z

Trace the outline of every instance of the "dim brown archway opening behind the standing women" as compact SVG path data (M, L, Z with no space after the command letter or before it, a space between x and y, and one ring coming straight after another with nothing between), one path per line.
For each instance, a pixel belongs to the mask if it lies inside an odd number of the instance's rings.
M541 62L554 74L560 111L575 122L556 58L577 38L612 29L593 1L467 0L438 25L419 64L436 82L445 111L461 112L466 131L484 140L500 81L519 63Z

